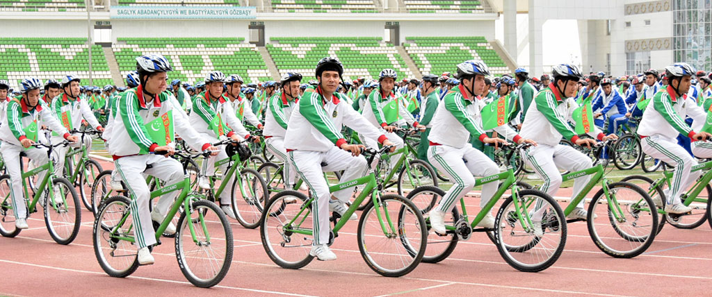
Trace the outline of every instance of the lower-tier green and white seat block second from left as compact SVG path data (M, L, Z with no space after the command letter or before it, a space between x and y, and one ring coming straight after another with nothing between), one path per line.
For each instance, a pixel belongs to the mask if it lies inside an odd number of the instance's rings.
M271 80L256 46L243 41L244 38L118 38L112 48L122 77L135 70L137 56L157 53L173 66L171 78L191 84L215 70L241 75L246 82Z

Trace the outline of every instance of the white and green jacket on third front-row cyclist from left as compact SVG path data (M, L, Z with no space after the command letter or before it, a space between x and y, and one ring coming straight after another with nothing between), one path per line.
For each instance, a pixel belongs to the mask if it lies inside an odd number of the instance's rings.
M429 99L430 100L430 99ZM431 119L432 129L428 140L434 144L462 148L468 145L468 136L482 141L487 134L482 129L481 110L486 104L481 97L466 99L462 85L449 90L438 104ZM498 126L497 131L506 139L517 141L519 136L508 125Z

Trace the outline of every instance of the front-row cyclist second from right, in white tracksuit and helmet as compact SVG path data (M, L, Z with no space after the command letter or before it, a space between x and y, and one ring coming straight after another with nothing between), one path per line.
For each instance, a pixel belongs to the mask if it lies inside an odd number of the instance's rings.
M538 146L524 152L525 162L544 180L540 190L554 196L562 182L558 168L580 171L593 166L591 159L584 153L572 146L559 144L562 136L577 146L590 147L596 141L579 138L569 124L575 122L572 114L578 108L573 97L576 95L577 82L582 79L579 69L569 64L556 65L552 69L552 76L553 82L534 98L535 104L530 106L524 118L520 135L538 142ZM617 139L614 134L605 136L595 125L587 134L601 141ZM589 179L590 175L585 175L574 180L572 198L583 190ZM583 208L583 203L581 200L568 217L586 220L588 212Z

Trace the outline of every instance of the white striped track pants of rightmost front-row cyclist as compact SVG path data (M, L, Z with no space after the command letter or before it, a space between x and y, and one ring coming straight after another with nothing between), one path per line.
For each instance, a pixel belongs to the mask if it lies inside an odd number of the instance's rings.
M677 139L667 139L654 135L641 141L643 152L674 166L672 180L666 191L668 204L681 203L680 194L700 177L701 171L691 171L697 165L695 158L677 144Z

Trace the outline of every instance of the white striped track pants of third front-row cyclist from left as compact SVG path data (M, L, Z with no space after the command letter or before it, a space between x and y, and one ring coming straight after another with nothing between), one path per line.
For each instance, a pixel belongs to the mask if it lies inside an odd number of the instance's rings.
M438 205L438 210L441 212L450 212L455 202L472 190L475 186L473 175L485 177L499 173L497 164L483 152L473 148L471 144L465 144L462 148L430 146L428 161L454 183ZM497 191L498 185L498 181L482 185L480 207L484 207L489 202Z

